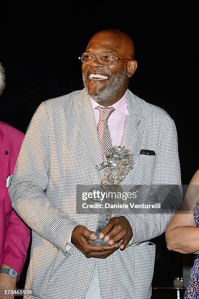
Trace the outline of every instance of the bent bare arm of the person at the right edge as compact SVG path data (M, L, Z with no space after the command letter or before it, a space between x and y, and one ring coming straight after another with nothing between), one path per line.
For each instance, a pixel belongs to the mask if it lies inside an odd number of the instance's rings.
M199 253L199 227L196 226L193 210L199 199L199 170L194 174L185 198L166 229L169 250L179 253Z

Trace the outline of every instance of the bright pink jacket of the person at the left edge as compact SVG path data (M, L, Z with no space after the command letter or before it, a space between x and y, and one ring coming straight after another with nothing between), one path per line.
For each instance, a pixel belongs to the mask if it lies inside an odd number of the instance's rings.
M11 206L6 179L14 172L23 137L16 128L0 122L0 267L8 265L19 277L26 259L30 230Z

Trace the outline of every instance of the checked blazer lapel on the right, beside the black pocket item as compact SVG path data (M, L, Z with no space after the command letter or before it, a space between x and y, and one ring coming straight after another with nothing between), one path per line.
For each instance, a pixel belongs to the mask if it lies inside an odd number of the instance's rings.
M129 90L127 92L127 108L129 115L126 117L124 143L125 148L130 149L136 158L139 155L145 117L141 114L140 105L137 103L135 96Z

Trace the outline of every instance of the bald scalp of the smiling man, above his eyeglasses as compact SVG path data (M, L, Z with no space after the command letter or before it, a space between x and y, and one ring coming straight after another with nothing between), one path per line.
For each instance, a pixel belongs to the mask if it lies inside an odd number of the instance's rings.
M134 59L134 44L126 33L116 29L99 31L90 39L87 48L101 42L107 43L107 45L113 43L115 50L121 52L123 57Z

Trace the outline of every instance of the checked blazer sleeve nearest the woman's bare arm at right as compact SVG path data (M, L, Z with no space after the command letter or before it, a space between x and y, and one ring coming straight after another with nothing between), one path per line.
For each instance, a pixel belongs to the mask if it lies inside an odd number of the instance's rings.
M133 230L133 238L129 245L150 240L164 233L182 201L177 130L173 120L171 120L161 140L151 187L155 191L152 200L154 203L160 203L162 208L159 210L160 212L143 210L142 214L135 214L129 209L128 214L123 214L130 222Z

